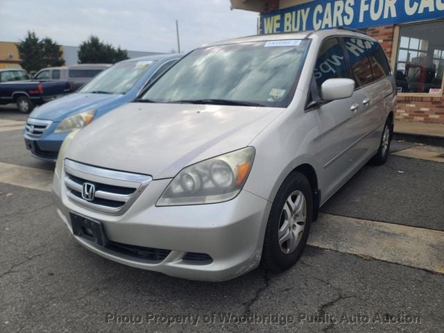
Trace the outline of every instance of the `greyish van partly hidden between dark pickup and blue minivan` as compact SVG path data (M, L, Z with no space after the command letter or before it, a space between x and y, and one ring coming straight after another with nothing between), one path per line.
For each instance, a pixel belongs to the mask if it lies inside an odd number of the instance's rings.
M40 69L33 76L34 80L68 80L73 90L88 83L101 71L110 68L110 64L81 64L69 67L48 67Z

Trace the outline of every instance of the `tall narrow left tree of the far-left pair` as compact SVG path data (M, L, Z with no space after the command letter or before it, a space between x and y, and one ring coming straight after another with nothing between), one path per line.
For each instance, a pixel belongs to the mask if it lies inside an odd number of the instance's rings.
M28 31L24 40L17 44L20 56L20 66L26 71L38 71L43 67L43 49L40 40L34 32Z

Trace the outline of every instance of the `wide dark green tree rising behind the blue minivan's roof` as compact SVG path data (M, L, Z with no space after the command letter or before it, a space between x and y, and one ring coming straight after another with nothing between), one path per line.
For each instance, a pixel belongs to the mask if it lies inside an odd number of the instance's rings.
M120 46L114 49L111 44L105 44L105 42L99 40L99 37L93 35L80 44L80 49L78 50L79 64L114 64L114 62L126 59L128 59L128 53L122 50Z

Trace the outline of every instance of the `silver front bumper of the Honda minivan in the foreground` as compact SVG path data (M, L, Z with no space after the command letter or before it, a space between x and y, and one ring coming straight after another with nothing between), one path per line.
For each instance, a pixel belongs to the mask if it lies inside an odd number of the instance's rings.
M65 185L54 175L53 195L57 212L72 233L70 212L103 225L108 240L129 246L169 250L161 262L133 257L76 240L92 252L128 266L190 280L223 281L236 278L259 265L271 203L248 191L225 203L156 207L170 180L153 180L133 205L120 216L111 216L76 205ZM185 260L187 253L212 258L210 264Z

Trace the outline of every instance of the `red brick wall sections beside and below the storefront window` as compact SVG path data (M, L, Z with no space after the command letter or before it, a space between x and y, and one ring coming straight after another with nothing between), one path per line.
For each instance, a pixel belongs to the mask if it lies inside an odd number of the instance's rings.
M393 51L394 31L395 26L393 25L366 29L367 35L381 43L388 58L391 57ZM426 123L444 123L444 100L441 96L398 95L398 110L396 110L395 119Z

